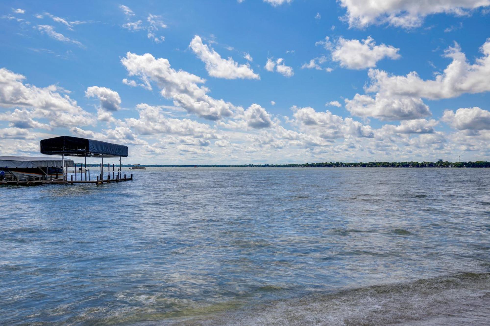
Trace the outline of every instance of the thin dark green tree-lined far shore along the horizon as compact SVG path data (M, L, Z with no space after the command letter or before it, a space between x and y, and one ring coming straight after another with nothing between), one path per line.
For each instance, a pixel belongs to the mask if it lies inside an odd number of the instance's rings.
M77 163L77 165L84 163ZM107 163L106 163L107 164ZM104 166L107 166L104 164ZM112 165L112 164L111 164ZM114 163L114 166L119 164ZM134 164L122 164L130 167ZM87 164L87 166L100 166L99 164ZM303 163L303 164L141 164L146 167L490 167L490 162L368 162L368 163L343 163L343 162L324 162L324 163Z

